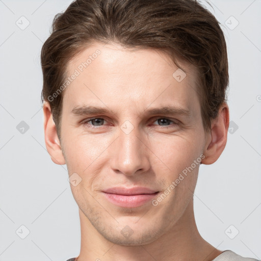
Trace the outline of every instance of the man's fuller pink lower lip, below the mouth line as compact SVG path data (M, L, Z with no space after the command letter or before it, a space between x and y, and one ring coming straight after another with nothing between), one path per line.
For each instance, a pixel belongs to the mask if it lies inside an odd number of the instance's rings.
M113 204L121 207L137 207L145 204L146 202L152 200L159 192L153 194L140 194L140 195L118 195L105 193L106 198Z

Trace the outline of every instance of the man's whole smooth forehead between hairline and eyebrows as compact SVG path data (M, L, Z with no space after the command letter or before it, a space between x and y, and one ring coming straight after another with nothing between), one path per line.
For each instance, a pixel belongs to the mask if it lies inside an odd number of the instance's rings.
M77 76L66 87L63 103L68 109L97 102L123 109L175 102L190 109L198 96L197 71L190 63L177 62L186 73L160 50L93 43L68 63L68 77Z

